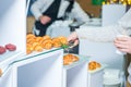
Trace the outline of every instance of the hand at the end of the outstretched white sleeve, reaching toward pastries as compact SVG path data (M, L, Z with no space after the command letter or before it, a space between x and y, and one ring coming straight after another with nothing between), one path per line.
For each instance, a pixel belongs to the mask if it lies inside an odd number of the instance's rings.
M73 41L73 47L79 45L79 38L75 32L68 37L68 42Z

